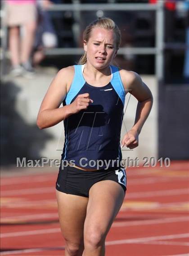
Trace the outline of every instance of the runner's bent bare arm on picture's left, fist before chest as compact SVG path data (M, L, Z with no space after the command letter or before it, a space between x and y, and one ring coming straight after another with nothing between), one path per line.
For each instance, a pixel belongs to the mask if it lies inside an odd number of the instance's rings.
M69 91L73 76L74 67L63 68L51 82L37 116L37 126L40 129L54 126L68 116L87 109L92 102L89 94L84 93L78 95L71 104L59 107Z

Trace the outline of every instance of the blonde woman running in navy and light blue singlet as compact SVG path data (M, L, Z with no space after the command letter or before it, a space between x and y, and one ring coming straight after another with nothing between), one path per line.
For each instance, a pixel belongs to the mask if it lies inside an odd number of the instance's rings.
M64 121L56 193L65 256L104 256L105 238L126 192L121 147L138 146L153 97L137 73L112 65L121 34L110 18L91 23L83 39L85 54L78 65L57 73L37 125L43 129ZM120 143L127 92L138 105L135 123Z

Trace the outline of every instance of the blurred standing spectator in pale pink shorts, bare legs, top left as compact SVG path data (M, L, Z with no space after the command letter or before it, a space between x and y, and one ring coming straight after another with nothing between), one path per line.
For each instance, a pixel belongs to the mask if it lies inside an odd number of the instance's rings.
M36 0L6 0L6 23L9 28L11 74L31 76L31 50L36 32ZM23 28L22 40L20 28Z

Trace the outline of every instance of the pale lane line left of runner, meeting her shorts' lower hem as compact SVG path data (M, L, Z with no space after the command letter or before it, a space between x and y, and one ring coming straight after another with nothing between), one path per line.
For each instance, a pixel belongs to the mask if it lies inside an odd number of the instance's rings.
M54 187L37 187L37 188L25 188L25 189L14 189L8 191L2 191L1 197L4 196L18 196L18 195L31 195L31 194L38 194L38 193L50 193L55 191Z

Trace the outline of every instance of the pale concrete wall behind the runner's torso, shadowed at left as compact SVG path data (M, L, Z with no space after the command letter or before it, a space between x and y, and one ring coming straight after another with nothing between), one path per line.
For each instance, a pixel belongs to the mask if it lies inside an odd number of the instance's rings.
M36 126L36 116L41 101L56 72L57 70L52 68L41 69L32 79L10 77L3 79L3 87L1 87L4 91L3 101L7 102L7 98L10 98L5 108L11 108L8 114L5 109L3 110L3 120L4 122L7 120L3 130L9 130L3 144L6 149L3 155L6 158L5 163L14 163L15 156L24 155L28 158L45 156L49 159L60 159L64 142L63 122L44 130L39 130ZM139 136L139 147L133 151L122 150L123 158L138 157L140 161L144 156L157 158L157 82L154 76L142 76L142 78L153 92L153 110ZM137 101L133 96L130 96L128 101L128 96L126 96L128 105L124 115L126 129L123 125L121 136L132 127L135 119ZM11 137L11 134L14 134L14 137Z

